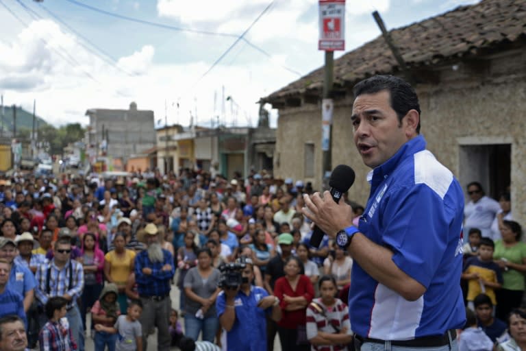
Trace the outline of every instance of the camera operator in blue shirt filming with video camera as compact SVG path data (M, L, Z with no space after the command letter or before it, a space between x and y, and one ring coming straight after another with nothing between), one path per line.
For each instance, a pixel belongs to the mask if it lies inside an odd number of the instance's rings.
M219 322L227 331L223 350L266 351L265 315L270 315L275 321L281 319L279 300L268 295L262 287L251 285L254 273L250 258L240 258L235 266L223 267L227 279L216 301ZM228 269L238 271L241 276L239 285L235 285L235 274L227 273Z

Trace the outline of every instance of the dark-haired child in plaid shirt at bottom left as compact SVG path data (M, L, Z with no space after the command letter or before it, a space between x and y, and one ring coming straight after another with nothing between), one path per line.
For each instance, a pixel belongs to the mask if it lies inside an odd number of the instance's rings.
M47 300L44 307L49 321L42 327L38 335L40 351L70 351L77 350L73 341L68 319L66 319L66 305L68 300L56 296Z

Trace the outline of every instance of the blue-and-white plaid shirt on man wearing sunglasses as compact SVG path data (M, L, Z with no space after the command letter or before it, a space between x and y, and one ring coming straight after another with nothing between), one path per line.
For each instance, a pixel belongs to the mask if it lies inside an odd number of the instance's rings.
M72 273L69 271L69 265L73 270L73 279L71 290L68 290L69 276ZM49 293L46 287L47 270L51 267L49 276ZM58 269L55 265L55 259L51 260L47 265L41 265L36 271L36 291L35 295L42 305L45 305L47 300L53 296L62 296L64 294L70 295L73 299L68 308L75 304L75 300L82 295L84 288L84 269L82 265L75 260L70 260L62 269Z

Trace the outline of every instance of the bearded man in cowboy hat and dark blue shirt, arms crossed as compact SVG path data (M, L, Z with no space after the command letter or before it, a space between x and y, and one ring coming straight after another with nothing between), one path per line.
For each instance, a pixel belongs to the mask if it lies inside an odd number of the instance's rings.
M142 315L139 322L142 330L143 350L147 350L148 331L157 327L158 350L170 349L170 332L168 332L168 319L172 303L170 300L170 284L175 274L173 256L168 250L162 249L157 226L147 224L144 229L144 241L147 250L137 254L135 258L135 278L142 302Z

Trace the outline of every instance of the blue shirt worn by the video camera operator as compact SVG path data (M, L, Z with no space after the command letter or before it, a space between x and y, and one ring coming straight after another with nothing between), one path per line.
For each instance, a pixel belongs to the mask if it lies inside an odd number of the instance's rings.
M223 345L228 351L266 351L266 313L272 307L262 310L258 302L268 293L262 287L251 287L247 296L242 291L234 299L236 320L227 332L227 343ZM225 293L221 291L216 300L217 317L225 313Z

